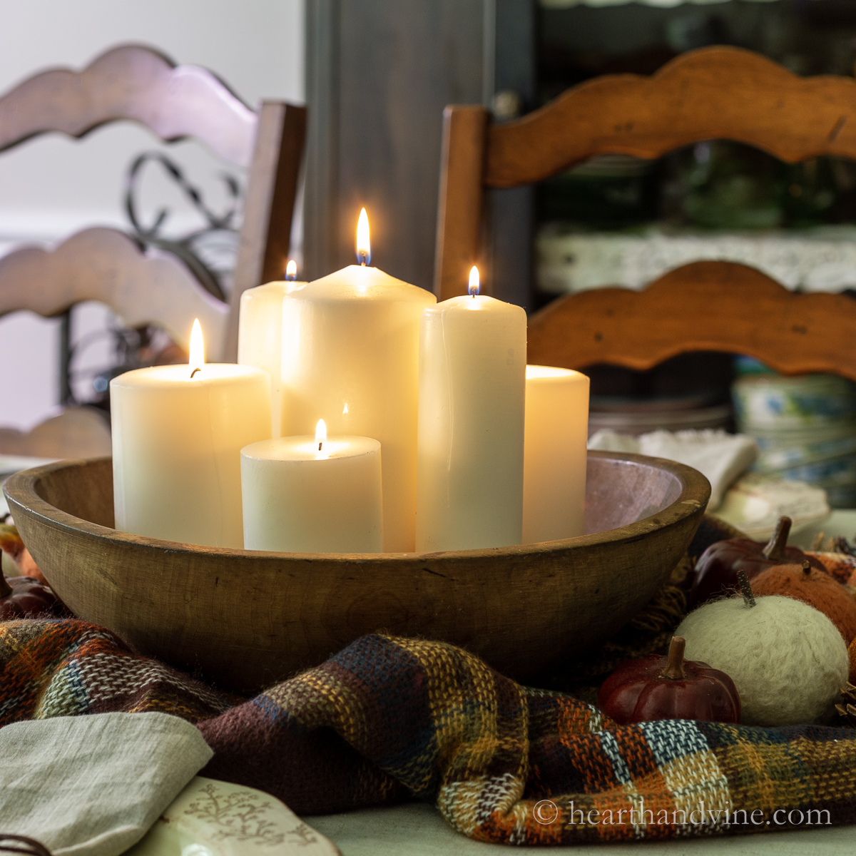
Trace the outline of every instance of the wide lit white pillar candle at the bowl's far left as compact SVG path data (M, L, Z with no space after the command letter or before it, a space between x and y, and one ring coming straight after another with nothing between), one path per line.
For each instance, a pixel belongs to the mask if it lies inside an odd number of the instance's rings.
M191 336L190 366L110 381L116 529L240 549L241 449L270 437L270 381L205 364L196 345Z

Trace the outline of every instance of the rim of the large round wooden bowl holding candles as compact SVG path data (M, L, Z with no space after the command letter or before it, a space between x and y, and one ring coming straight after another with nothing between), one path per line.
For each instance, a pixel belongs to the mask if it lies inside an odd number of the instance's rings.
M665 470L674 475L681 484L681 493L665 508L648 515L625 526L617 526L614 529L606 529L602 532L592 532L587 535L577 535L574 538L562 538L556 541L540 541L532 544L515 544L507 547L479 548L477 550L443 550L437 552L413 552L413 553L285 553L273 550L238 550L233 547L214 547L204 544L184 544L178 541L167 541L162 538L150 538L146 535L134 535L131 532L121 532L110 526L101 526L89 520L68 514L61 508L51 505L42 499L37 490L39 482L50 473L71 467L81 467L110 461L110 455L97 458L76 458L63 461L55 461L41 467L33 467L13 473L3 484L3 494L9 503L9 511L15 519L15 511L23 514L39 517L44 523L68 532L83 534L90 538L106 538L113 542L136 545L138 547L158 548L168 550L170 553L184 553L189 555L211 555L241 558L246 561L248 557L258 557L268 561L324 561L324 562L414 562L424 564L431 560L472 560L482 556L521 556L544 552L559 552L573 550L575 548L591 546L595 544L614 543L616 541L633 540L651 532L651 529L662 528L664 525L675 525L681 520L698 514L699 509L704 512L710 499L710 482L703 473L686 464L677 461L669 461L665 458L655 458L649 455L631 455L627 453L615 453L596 451L590 449L587 453L590 457L605 458L610 461L640 463L647 467L656 466L657 469ZM666 517L668 520L661 520Z

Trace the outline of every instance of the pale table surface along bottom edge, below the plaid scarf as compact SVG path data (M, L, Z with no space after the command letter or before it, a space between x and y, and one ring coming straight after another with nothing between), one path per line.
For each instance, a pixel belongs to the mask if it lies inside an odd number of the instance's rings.
M574 856L853 856L856 827L799 829L771 835L726 835L684 841L639 841L580 847L514 847L484 844L455 832L432 805L408 803L347 814L306 817L342 856L482 856L491 853L574 853Z

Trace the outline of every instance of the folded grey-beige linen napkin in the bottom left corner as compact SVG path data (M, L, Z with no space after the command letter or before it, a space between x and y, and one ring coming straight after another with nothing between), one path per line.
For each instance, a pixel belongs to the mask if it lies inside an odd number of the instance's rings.
M0 728L0 832L54 856L118 856L210 760L199 729L165 713L101 713Z

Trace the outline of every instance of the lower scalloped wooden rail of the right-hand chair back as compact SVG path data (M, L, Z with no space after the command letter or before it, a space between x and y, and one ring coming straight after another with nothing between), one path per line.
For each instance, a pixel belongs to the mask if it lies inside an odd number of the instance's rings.
M783 374L856 381L856 300L794 294L759 270L693 262L642 291L568 294L529 318L527 361L580 369L649 369L676 354L749 354Z

